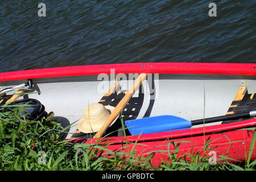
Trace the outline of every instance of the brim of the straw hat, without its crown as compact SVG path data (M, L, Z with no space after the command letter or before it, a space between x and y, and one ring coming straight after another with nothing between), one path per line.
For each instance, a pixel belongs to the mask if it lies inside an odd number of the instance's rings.
M104 106L104 107L107 110L110 110L110 114L115 109L115 107L113 107L113 106ZM112 126L115 123L115 121L117 121L119 115L120 114L118 114L118 116L114 119L114 121L111 123L110 126ZM81 131L82 133L95 133L95 132L99 131L103 125L104 125L104 122L101 122L101 121L99 121L99 122L90 122L90 121L88 121L88 119L81 118L78 121L77 129L79 131Z

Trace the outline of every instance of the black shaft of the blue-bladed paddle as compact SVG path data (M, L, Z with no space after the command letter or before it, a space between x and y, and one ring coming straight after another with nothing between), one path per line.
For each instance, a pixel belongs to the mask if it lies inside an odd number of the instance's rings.
M191 125L202 125L206 123L212 123L212 122L217 122L217 121L228 121L231 119L240 119L240 118L250 118L252 115L250 112L246 113L240 113L240 114L229 114L229 115L221 115L218 117L212 117L212 118L205 118L205 119L197 119L191 121Z

